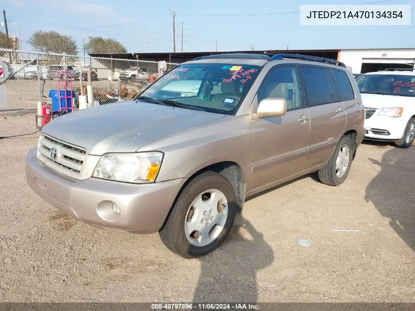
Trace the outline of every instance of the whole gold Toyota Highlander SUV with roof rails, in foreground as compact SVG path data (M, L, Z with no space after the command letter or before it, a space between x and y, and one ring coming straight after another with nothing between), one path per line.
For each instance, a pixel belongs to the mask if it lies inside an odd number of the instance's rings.
M327 185L343 183L363 122L358 86L341 62L198 57L134 101L48 123L26 177L76 219L159 231L171 251L197 257L221 244L245 198L314 171Z

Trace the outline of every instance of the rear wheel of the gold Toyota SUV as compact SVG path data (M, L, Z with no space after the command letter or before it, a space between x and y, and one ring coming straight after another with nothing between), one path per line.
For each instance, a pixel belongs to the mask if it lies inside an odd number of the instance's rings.
M337 144L329 162L318 171L318 178L323 184L338 186L346 179L352 165L352 140L343 136Z

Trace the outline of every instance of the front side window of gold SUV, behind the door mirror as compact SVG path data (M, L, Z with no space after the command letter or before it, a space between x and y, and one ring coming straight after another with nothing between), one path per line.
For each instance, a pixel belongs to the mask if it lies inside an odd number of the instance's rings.
M297 68L291 66L272 68L258 90L258 103L267 97L284 98L287 110L302 107Z

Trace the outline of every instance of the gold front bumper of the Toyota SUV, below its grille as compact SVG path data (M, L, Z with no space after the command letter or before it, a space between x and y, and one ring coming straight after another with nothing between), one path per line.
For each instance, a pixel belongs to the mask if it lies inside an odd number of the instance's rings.
M34 192L69 216L92 226L132 233L159 231L187 180L141 185L92 177L77 180L40 162L36 148L26 160L26 179ZM119 216L112 212L111 202L120 207Z

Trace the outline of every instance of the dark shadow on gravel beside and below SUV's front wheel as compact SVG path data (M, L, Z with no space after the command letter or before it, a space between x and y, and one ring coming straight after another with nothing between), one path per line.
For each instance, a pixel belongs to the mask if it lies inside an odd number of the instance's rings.
M200 260L202 266L194 302L256 303L256 274L272 264L274 253L262 234L248 220L236 215L223 244Z

